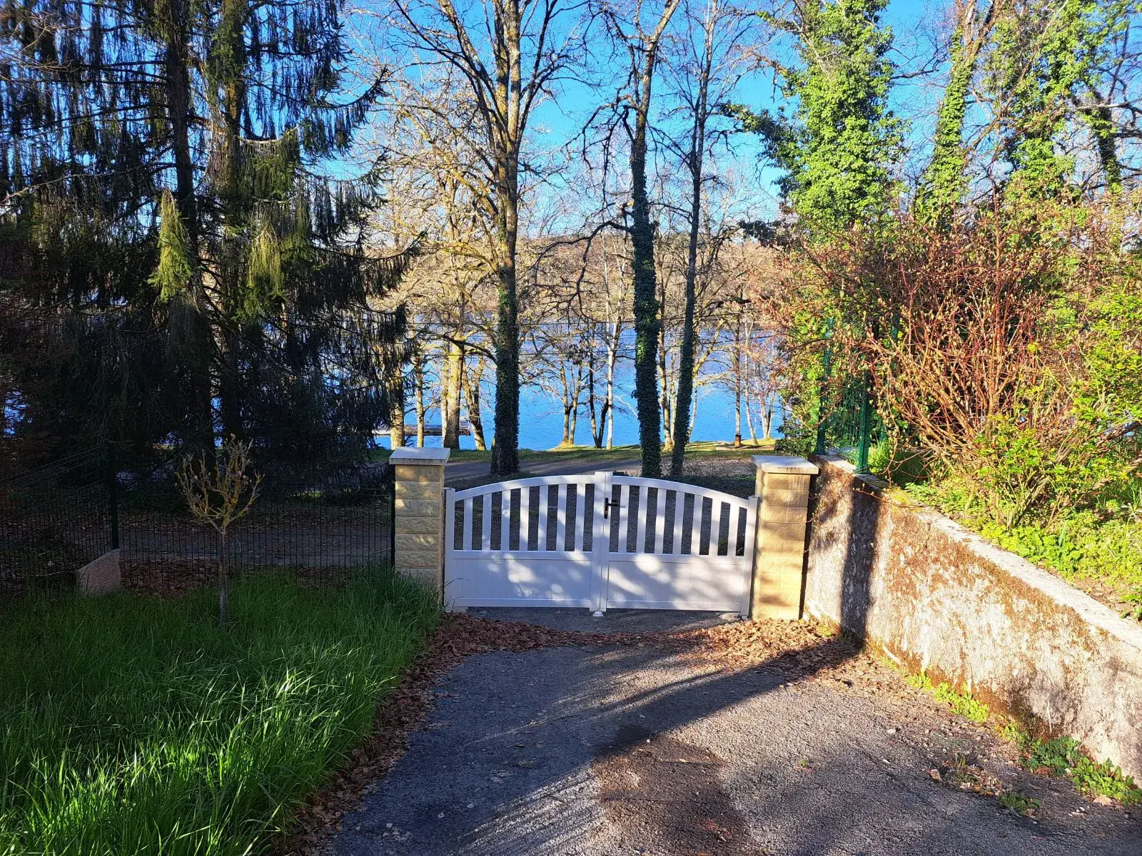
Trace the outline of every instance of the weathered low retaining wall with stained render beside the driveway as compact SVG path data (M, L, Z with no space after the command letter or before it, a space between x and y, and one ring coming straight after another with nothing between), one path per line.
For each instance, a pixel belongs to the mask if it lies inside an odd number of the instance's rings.
M810 615L1142 777L1142 627L847 462L813 460Z

